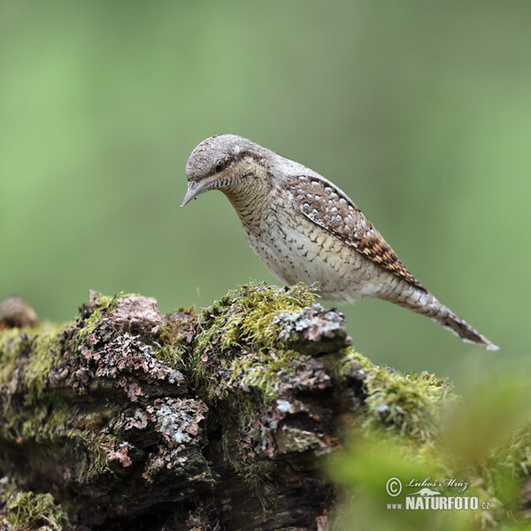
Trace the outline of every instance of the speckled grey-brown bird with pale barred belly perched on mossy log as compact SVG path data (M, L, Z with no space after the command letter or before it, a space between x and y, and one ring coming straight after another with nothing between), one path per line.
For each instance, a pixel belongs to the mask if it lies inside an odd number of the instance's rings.
M192 150L181 206L216 189L235 208L250 248L288 285L316 286L323 300L379 298L434 319L464 342L498 347L439 302L334 183L238 135Z

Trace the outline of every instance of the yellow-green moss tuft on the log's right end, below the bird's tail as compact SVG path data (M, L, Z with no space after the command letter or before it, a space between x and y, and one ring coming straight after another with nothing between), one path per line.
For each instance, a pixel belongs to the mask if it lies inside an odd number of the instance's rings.
M404 376L373 364L349 347L336 366L344 374L352 366L366 373L362 426L383 427L422 441L432 439L440 425L443 406L451 402L451 385L433 374Z

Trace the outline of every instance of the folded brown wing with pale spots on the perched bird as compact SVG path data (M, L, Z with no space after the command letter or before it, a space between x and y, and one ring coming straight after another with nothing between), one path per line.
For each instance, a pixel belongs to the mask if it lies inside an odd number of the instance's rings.
M298 175L286 183L296 207L319 227L413 286L427 291L396 256L350 197L317 174Z

